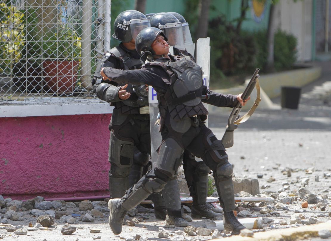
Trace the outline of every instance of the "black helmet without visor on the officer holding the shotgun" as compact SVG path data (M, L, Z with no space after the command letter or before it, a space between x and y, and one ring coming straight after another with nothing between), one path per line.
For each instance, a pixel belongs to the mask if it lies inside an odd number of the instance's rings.
M155 52L152 49L152 43L159 35L162 35L165 40L167 40L161 29L148 27L141 30L136 38L136 51L140 55L145 55L145 53L147 53L147 55L155 55Z

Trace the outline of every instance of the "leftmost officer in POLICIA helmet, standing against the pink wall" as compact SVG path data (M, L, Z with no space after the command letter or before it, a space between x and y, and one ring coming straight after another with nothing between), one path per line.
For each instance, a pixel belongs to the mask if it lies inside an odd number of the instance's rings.
M150 20L142 13L127 10L118 15L114 23L113 38L121 43L107 52L99 61L92 85L97 96L114 106L109 124L109 192L111 198L124 195L142 176L143 168L150 159L150 125L148 98L145 85L118 86L104 81L102 67L122 70L140 69L140 55L135 49L137 34L150 26ZM155 216L166 218L165 203L160 194L153 194Z

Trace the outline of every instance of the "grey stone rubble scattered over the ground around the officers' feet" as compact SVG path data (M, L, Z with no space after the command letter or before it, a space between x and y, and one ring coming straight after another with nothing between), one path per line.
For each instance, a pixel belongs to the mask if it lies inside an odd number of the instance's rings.
M241 190L235 194L236 197L245 197L248 200L269 197L267 201L237 202L235 211L238 218L262 218L260 229L242 232L242 236L252 236L255 232L261 231L320 224L331 220L331 195L329 194L331 186L328 182L331 178L331 168L321 171L314 168L282 168L276 165L265 170L270 170L272 175L263 172L259 181L246 177L234 178L236 187L241 187L239 188ZM243 170L243 172L246 171ZM279 175L275 175L275 172ZM108 199L80 202L47 201L41 196L21 201L0 195L2 236L34 236L37 235L36 231L53 230L59 235L71 235L75 232L77 236L78 233L84 232L84 237L91 235L90 239L99 239L99 237L102 239L103 236L93 235L96 233L103 235L105 232L109 233L108 236L112 235L108 227L107 201ZM206 224L213 220L192 220L190 208L190 203L183 203L185 219L190 222L190 226L176 227L166 225L162 220L156 220L153 209L150 207L138 206L125 216L123 230L130 232L123 231L119 239L147 241L152 238L166 238L193 241L231 236L226 231L206 228ZM222 219L215 219L214 222L218 222L217 220ZM82 225L86 224L84 228ZM150 231L151 225L157 230ZM321 238L329 238L330 231L320 230L318 235ZM41 237L43 235L46 239L48 238L46 231L41 233Z

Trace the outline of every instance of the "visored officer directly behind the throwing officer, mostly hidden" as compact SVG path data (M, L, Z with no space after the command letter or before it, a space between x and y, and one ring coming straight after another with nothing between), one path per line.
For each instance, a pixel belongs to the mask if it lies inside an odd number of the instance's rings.
M191 40L191 44L193 44L191 34L189 32L189 29L187 29L188 23L181 15L175 13L179 17L178 18L175 17L172 13L158 13L153 15L150 18L151 27L156 27L163 31L164 35L168 39L168 44L170 45L171 43L171 45L173 46L174 55L190 56L191 59L196 62L195 58L190 53L188 53L185 48L185 36L187 41L189 42L189 40ZM215 211L220 210L218 212L214 212L212 210L212 207L210 207L209 205L207 206L206 204L208 192L208 174L211 171L208 166L203 161L197 162L194 158L194 155L191 155L190 152L185 150L183 154L183 167L185 179L190 190L190 195L193 199L191 217L214 218L217 216L221 216L220 209L214 208ZM176 183L174 183L173 181L169 181L163 190L163 196L166 203L171 202L173 206L176 206L176 204L177 206L181 206L180 197L177 197L175 194L169 195L169 192L174 193L173 190L176 190L175 186Z

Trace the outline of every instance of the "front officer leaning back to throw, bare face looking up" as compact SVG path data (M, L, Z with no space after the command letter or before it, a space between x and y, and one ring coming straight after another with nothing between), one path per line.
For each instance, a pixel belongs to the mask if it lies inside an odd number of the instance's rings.
M187 149L201 157L213 170L220 205L224 210L224 227L238 234L245 227L234 216L232 165L221 141L204 125L208 111L203 101L219 107L234 107L241 95L224 95L209 90L202 84L201 68L187 56L168 55L169 45L160 29L148 27L136 38L136 50L149 60L140 70L123 71L104 68L104 79L120 84L152 85L158 94L162 143L156 165L122 198L111 199L109 225L114 234L122 231L126 212L153 192L161 192L177 174L182 154Z

